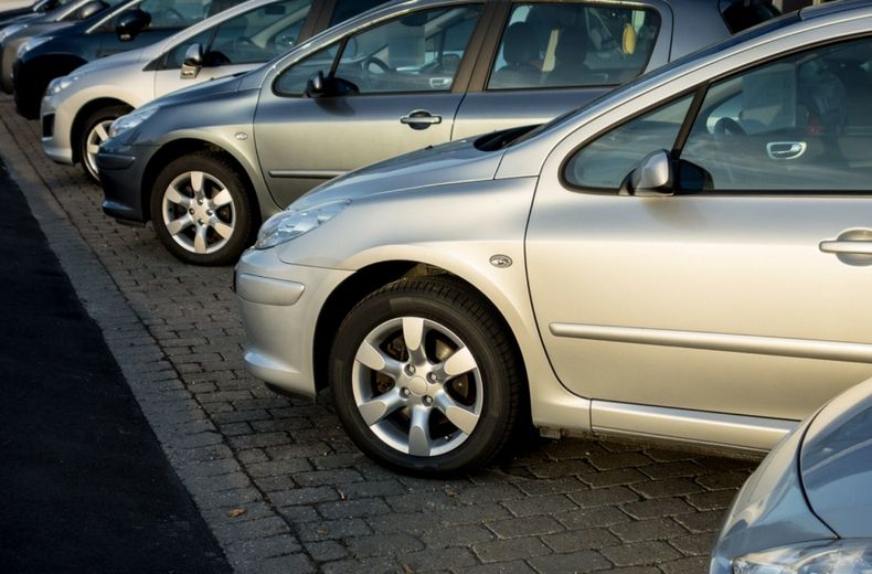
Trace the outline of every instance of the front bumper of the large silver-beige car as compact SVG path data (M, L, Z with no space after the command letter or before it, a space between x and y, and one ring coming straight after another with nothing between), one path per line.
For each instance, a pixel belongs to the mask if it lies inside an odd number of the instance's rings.
M245 368L293 394L313 397L315 331L330 294L352 272L288 265L277 248L248 249L236 265Z

